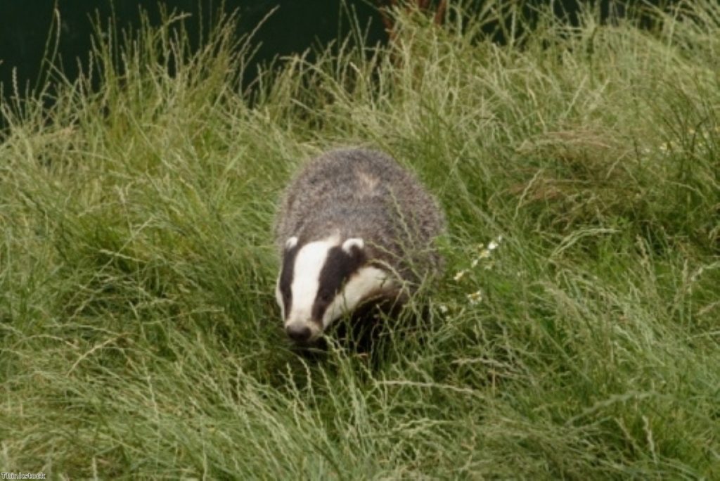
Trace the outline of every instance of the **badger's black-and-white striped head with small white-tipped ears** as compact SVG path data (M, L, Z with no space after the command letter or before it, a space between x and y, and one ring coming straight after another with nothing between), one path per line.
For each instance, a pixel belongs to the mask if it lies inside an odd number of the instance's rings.
M312 343L334 320L388 292L387 272L368 260L361 238L336 235L304 244L289 238L275 289L287 336Z

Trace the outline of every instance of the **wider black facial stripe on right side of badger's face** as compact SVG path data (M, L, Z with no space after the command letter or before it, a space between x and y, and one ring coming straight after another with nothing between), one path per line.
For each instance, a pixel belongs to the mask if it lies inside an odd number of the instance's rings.
M315 322L323 320L330 302L333 302L343 284L365 264L365 261L365 253L358 247L353 247L350 253L343 251L340 246L330 248L325 258L325 265L320 270L318 295L312 303L312 319Z

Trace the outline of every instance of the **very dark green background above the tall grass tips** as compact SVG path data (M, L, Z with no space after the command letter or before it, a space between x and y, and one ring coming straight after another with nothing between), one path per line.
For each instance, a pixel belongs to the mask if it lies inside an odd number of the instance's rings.
M0 84L3 96L12 94L13 70L16 69L17 84L21 93L30 86L35 89L42 57L48 43L53 10L60 12L59 60L63 73L68 78L77 75L78 59L86 63L93 35L93 22L99 19L104 28L114 19L119 29L137 26L140 9L148 13L151 22L161 19L162 3L168 12L187 12L192 19L186 22L191 41L197 45L201 27L207 32L212 19L220 11L239 14L238 34L251 32L258 22L273 8L276 12L267 19L258 30L254 42L261 42L261 48L253 58L253 63L268 62L277 55L300 53L308 48L320 47L343 37L349 31L351 17L356 17L363 27L367 27L370 44L387 42L387 33L382 17L377 10L378 4L390 0L0 0ZM439 0L431 1L438 4ZM651 3L668 3L655 0ZM483 0L475 0L474 5L482 5ZM508 4L523 4L531 12L537 4L549 3L549 0L508 0ZM608 12L623 16L626 6L639 4L639 1L619 0L556 0L555 11L558 15L574 20L578 4L598 6L601 16ZM492 27L490 27L492 28ZM238 35L238 36L239 36ZM495 33L495 40L503 39ZM251 81L256 65L246 70L245 82Z

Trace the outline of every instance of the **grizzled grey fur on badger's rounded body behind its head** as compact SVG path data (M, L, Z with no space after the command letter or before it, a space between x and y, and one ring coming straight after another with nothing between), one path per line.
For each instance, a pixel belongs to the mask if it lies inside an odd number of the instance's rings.
M366 256L402 280L419 282L442 269L433 239L444 233L438 204L410 171L387 154L362 148L332 150L308 163L288 186L275 225L300 245L339 233L363 238Z

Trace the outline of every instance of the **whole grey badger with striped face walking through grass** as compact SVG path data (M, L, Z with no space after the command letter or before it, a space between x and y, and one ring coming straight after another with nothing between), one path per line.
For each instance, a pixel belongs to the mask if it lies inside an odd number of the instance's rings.
M385 153L332 150L289 184L276 215L276 300L287 336L310 345L366 303L402 305L442 269L444 215Z

